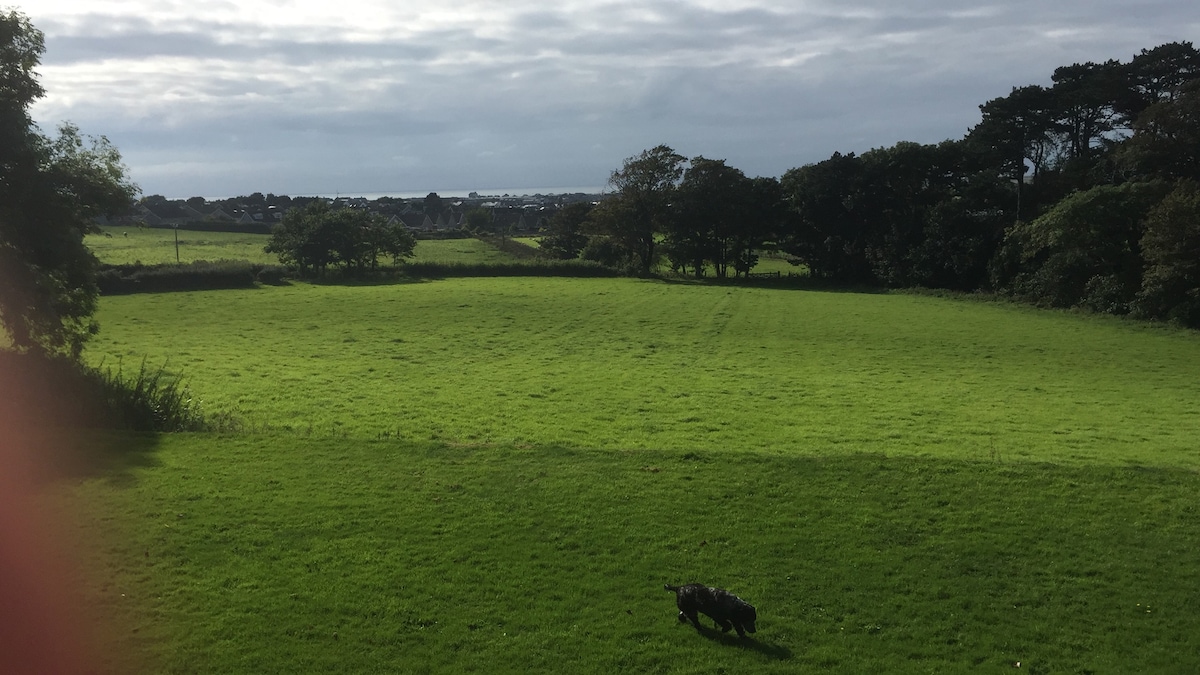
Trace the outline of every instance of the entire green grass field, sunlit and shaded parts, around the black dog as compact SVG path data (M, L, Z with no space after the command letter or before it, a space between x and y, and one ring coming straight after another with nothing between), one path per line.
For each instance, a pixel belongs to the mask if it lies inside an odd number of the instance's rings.
M59 484L113 671L1190 673L1200 340L637 280L104 298L235 435ZM760 610L740 641L664 583Z

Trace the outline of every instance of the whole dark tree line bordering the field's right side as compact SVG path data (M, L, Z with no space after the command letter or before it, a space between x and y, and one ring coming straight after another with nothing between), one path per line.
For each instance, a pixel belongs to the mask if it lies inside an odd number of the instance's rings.
M748 273L778 250L820 279L1002 293L1200 327L1200 53L1054 71L979 106L962 138L748 178L659 145L542 249L649 274Z

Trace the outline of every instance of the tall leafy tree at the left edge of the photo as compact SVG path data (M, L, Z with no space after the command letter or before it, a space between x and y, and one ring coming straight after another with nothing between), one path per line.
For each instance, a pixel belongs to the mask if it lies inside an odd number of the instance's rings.
M68 124L50 138L34 124L44 50L25 16L0 13L0 331L18 350L78 357L97 329L83 237L96 216L127 209L137 186L108 139Z

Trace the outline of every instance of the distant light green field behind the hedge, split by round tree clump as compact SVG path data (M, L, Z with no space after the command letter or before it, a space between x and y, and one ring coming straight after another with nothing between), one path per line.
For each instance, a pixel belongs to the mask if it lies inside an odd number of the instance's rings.
M175 262L175 232L158 228L102 228L104 234L90 234L88 246L101 262L109 264L145 264ZM264 264L280 262L274 253L264 253L270 239L268 234L240 234L236 232L179 231L179 261L250 261ZM414 262L436 263L488 263L512 262L508 253L497 251L478 239L420 240L416 243Z

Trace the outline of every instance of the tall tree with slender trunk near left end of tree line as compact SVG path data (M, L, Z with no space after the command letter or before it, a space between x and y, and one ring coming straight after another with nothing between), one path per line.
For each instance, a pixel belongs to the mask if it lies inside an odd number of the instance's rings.
M686 159L658 145L625 160L612 172L612 196L600 203L593 223L631 256L640 274L658 262L658 238L671 219L671 201Z

